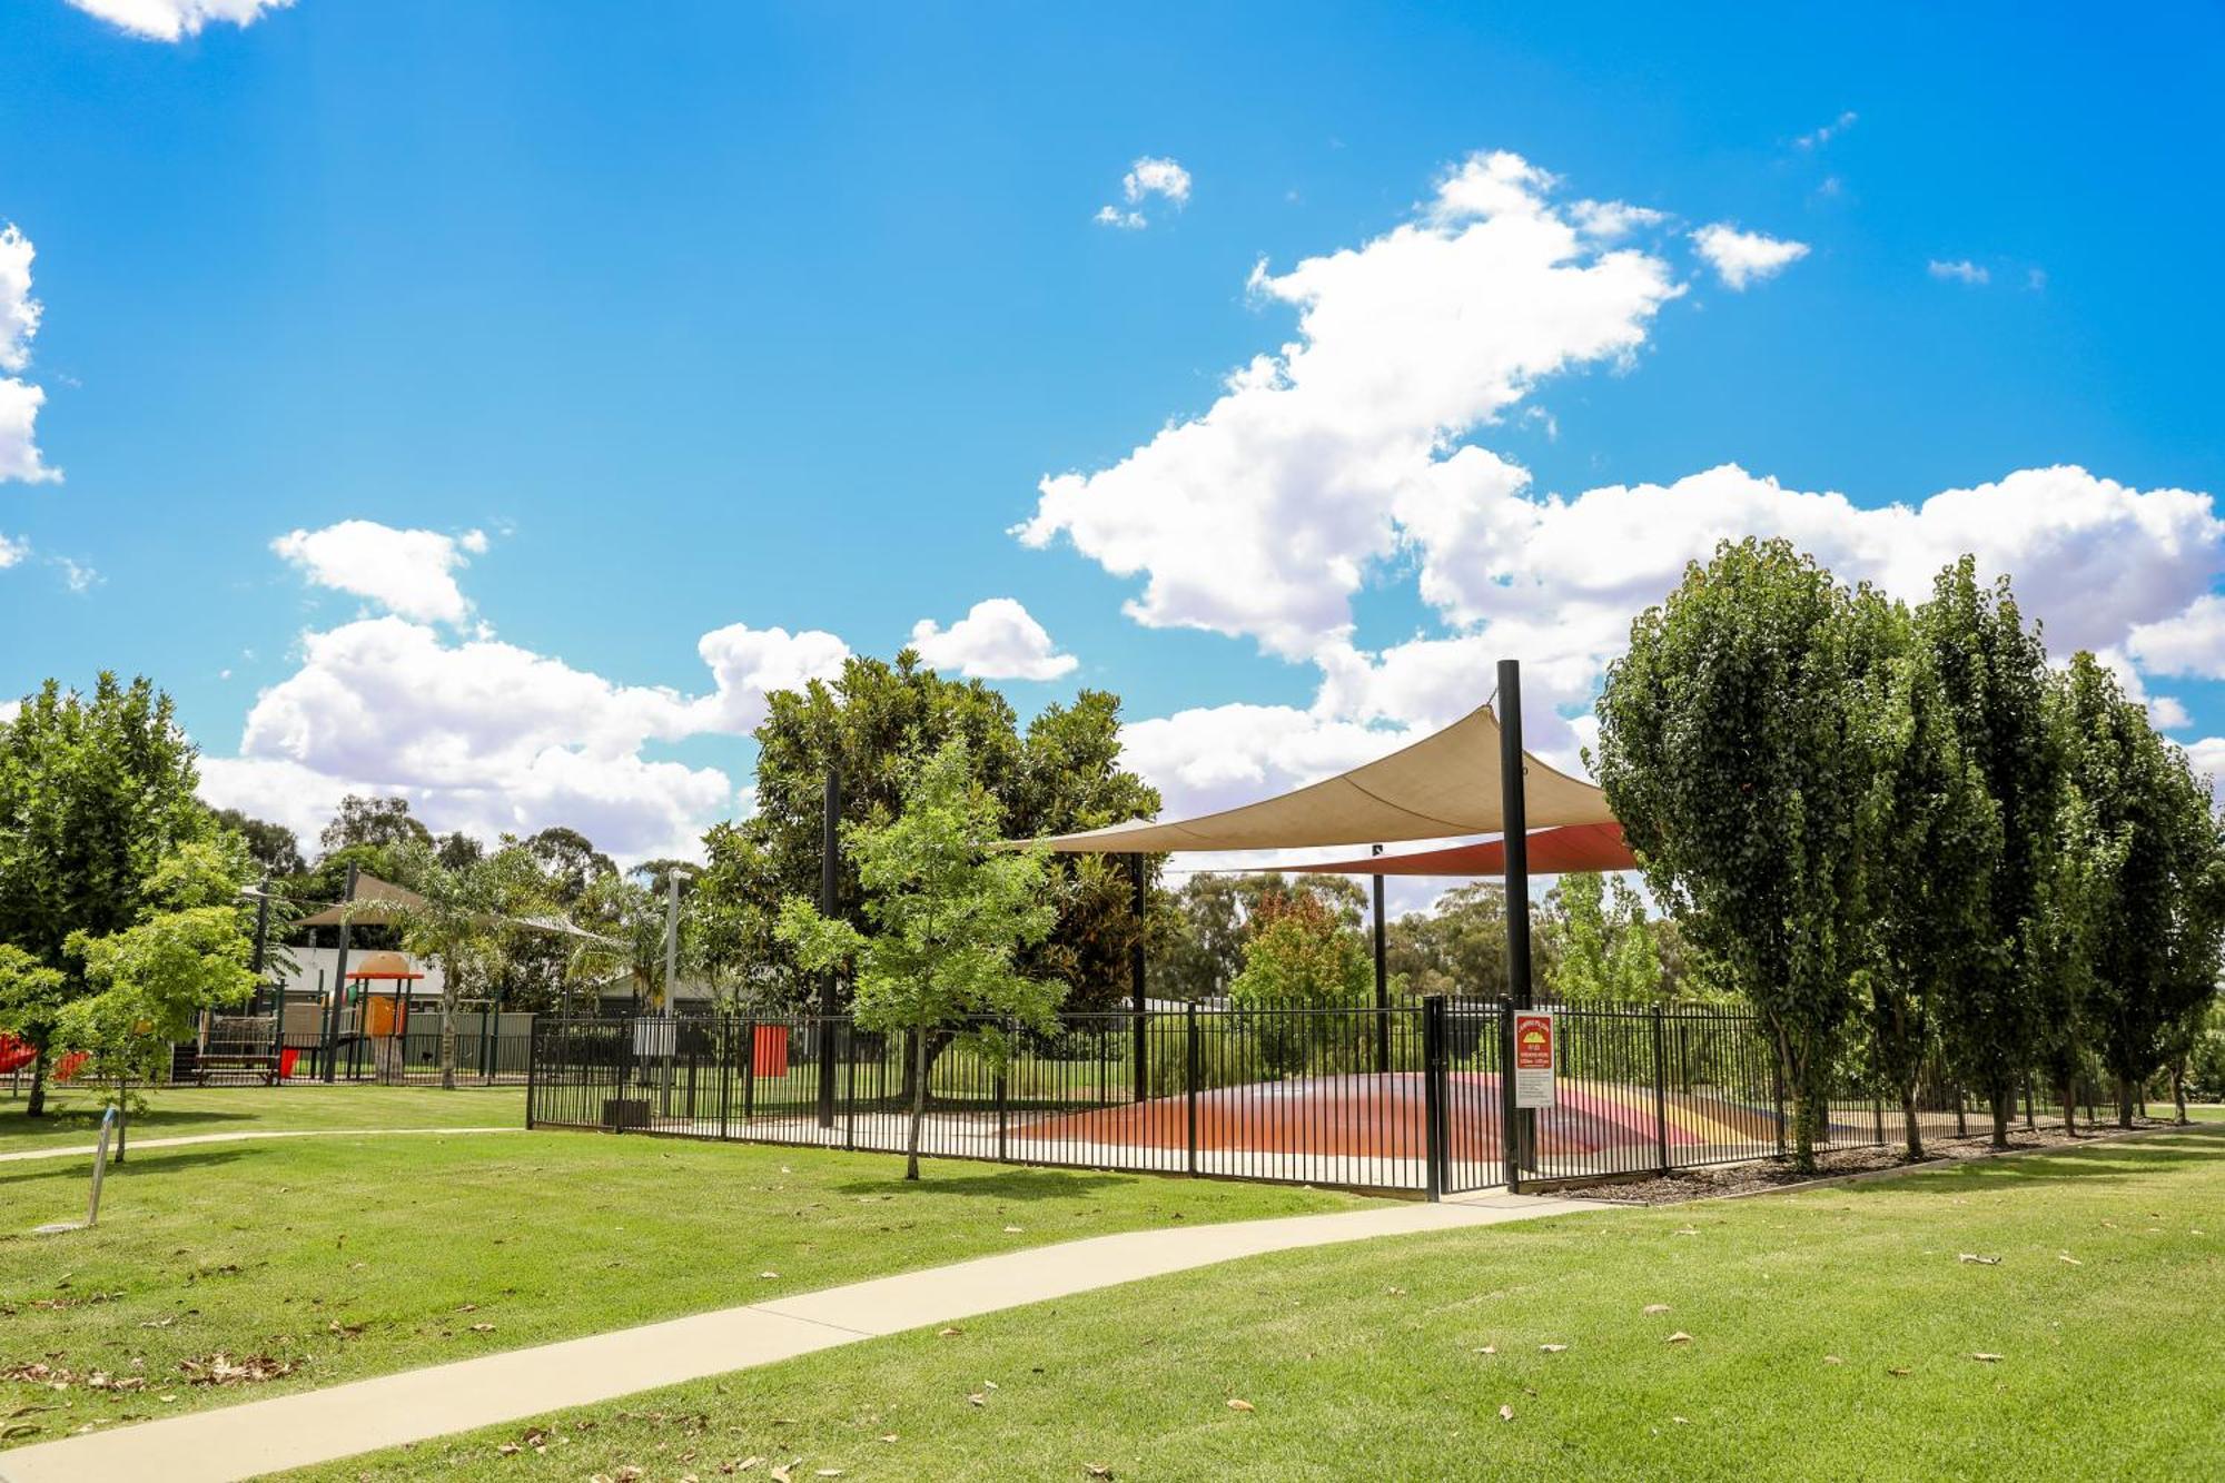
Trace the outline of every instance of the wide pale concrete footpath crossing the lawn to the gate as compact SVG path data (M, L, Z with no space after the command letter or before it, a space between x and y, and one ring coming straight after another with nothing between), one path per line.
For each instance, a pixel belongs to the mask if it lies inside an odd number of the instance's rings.
M1092 1236L0 1452L4 1483L227 1483L1242 1256L1609 1209L1466 1196Z

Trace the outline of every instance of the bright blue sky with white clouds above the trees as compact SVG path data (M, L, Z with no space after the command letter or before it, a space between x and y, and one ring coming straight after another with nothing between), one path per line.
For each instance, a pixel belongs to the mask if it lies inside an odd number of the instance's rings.
M2225 757L2216 7L1197 9L11 4L0 693L643 853L926 619L1210 804L1500 652L1571 757L1675 563L1789 530L1978 548Z

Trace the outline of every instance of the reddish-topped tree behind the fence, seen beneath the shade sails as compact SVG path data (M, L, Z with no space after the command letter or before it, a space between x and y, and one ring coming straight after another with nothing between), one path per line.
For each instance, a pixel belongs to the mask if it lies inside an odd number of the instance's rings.
M1262 900L1244 935L1244 971L1228 984L1237 1009L1264 1011L1250 1024L1270 1071L1304 1071L1311 1055L1357 1044L1357 1015L1277 1013L1359 1009L1373 995L1366 940L1319 895L1288 891Z

